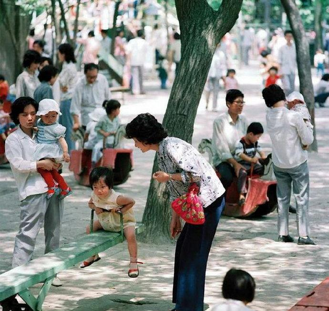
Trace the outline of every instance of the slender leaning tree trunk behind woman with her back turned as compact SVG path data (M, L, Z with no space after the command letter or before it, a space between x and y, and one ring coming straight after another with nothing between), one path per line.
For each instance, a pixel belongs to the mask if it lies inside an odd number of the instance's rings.
M297 66L300 82L300 92L304 95L309 114L314 125L314 142L310 150L318 151L315 129L315 111L314 111L314 90L312 84L312 74L310 71L309 46L305 35L302 18L294 0L281 0L282 6L287 14L291 30L293 31L296 51Z

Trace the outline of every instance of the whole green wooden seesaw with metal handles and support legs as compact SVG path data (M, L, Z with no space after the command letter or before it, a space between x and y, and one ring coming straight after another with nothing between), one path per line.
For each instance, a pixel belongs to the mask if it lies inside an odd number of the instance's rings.
M57 273L124 241L121 213L121 232L93 232L93 220L94 210L90 219L91 234L0 275L0 303L3 311L21 310L22 306L25 310L41 311L51 282ZM136 234L140 234L143 229L144 226L138 223ZM34 297L29 287L42 282L44 284L38 297ZM18 305L15 299L17 294L26 304Z

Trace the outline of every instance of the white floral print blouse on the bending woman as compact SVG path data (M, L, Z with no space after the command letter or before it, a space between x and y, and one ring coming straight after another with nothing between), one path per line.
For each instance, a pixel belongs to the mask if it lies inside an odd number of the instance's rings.
M182 181L167 182L170 201L186 193L192 182L200 188L198 196L204 208L225 192L208 161L192 145L179 138L167 137L160 142L157 161L161 171L181 173Z

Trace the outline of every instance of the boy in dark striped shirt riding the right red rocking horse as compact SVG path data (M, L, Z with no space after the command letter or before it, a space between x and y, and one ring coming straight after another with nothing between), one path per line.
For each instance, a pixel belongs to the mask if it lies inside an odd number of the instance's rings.
M265 153L262 151L258 144L264 132L262 124L259 122L252 122L247 128L247 134L235 144L235 160L239 162L245 169L240 169L237 178L237 190L240 193L239 205L242 206L246 201L246 181L247 176L253 166L253 172L259 175L264 173L264 167L259 163L259 158L256 157L257 153L261 159L265 159Z

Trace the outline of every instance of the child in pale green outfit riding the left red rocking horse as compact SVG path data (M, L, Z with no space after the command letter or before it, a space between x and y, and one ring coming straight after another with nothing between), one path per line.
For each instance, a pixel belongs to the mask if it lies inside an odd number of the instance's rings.
M97 125L95 132L98 133L98 143L95 145L92 153L92 165L95 167L97 161L102 157L103 141L105 140L106 148L113 148L115 134L120 126L121 104L116 100L109 100L103 104L106 115L103 115Z

